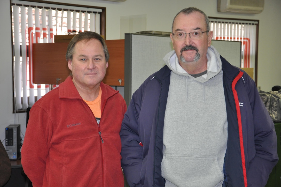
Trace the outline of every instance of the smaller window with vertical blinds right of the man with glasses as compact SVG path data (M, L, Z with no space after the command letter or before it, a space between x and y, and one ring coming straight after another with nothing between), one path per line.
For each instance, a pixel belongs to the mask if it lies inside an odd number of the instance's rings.
M210 30L214 32L213 40L240 41L240 67L253 67L254 80L257 84L257 51L259 20L234 20L209 17Z

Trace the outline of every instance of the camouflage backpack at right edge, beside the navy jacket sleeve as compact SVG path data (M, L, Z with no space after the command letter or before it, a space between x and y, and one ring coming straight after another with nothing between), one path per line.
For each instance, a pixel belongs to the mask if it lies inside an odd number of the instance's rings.
M259 91L259 94L272 121L281 122L281 91Z

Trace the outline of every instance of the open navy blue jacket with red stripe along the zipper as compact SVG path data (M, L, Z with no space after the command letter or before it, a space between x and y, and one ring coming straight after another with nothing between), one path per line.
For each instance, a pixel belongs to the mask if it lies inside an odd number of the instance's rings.
M223 186L264 186L278 162L274 123L252 78L223 57L221 61L228 121ZM130 186L165 185L161 162L170 73L164 66L149 76L125 113L121 166Z

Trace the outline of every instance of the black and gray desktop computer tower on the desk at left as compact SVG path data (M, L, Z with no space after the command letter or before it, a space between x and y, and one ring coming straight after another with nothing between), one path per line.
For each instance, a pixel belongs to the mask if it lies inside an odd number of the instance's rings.
M21 154L21 125L6 127L6 151L10 160L17 160Z

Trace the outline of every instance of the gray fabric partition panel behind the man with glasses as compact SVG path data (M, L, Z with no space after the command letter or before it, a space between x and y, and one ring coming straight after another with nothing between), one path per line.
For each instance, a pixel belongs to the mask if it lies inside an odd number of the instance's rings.
M219 53L240 67L241 42L212 40ZM133 93L144 80L165 66L163 57L173 50L167 35L125 33L124 99L129 105Z

